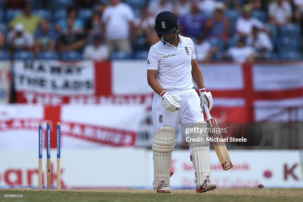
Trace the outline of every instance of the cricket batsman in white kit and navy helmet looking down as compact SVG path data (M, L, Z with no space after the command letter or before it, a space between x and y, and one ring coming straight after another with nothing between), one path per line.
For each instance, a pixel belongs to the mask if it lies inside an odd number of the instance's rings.
M176 144L176 128L181 124L186 137L205 138L208 132L186 134L184 126L198 124L207 128L204 103L209 111L213 106L211 92L206 92L191 38L179 35L179 20L169 11L161 12L155 20L155 30L160 41L151 46L147 59L148 84L155 91L152 118L155 137L152 144L154 161L154 188L157 193L171 193L171 154ZM198 96L194 84L198 85ZM183 127L183 129L182 129ZM211 181L209 142L188 142L193 162L197 193L214 190Z

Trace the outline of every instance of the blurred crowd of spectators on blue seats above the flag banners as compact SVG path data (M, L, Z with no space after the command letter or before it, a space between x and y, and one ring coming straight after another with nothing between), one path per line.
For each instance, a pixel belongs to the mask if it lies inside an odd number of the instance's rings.
M146 59L161 11L198 61L302 59L303 0L3 0L0 59Z

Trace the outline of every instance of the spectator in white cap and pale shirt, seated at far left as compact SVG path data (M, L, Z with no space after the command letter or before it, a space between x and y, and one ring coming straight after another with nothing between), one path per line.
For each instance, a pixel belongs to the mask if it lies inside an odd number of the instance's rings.
M8 51L12 56L18 50L32 51L34 38L25 30L22 23L17 23L14 29L8 33L7 44Z

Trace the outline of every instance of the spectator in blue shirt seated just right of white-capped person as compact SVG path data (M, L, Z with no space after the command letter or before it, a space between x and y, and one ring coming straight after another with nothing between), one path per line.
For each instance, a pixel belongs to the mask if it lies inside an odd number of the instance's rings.
M38 55L40 51L54 51L55 41L55 31L48 29L48 20L43 20L35 33L35 54Z

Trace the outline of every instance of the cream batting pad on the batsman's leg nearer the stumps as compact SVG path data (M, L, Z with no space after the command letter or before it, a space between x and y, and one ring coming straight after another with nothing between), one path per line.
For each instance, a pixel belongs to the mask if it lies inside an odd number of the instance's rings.
M176 131L172 127L161 127L152 143L154 153L154 188L160 184L170 187L171 154L176 145Z

